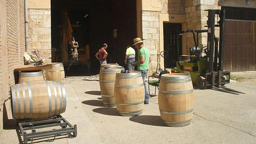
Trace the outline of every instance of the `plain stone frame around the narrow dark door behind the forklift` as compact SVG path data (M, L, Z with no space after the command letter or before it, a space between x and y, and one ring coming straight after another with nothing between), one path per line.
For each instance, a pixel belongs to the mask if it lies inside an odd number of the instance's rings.
M182 31L186 30L186 15L159 14L159 53L164 50L163 23L181 23ZM182 54L186 54L186 34L182 35ZM164 69L164 58L160 56L160 65Z

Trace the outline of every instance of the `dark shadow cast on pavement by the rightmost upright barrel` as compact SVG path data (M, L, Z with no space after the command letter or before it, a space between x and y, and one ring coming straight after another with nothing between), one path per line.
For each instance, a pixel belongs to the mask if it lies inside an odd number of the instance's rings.
M129 118L132 122L141 123L144 125L153 125L159 127L166 127L163 125L161 117L157 115L139 115Z

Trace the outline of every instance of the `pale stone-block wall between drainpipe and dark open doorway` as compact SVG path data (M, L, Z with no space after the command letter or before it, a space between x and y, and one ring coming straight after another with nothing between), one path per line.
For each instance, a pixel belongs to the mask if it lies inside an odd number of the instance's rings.
M51 63L51 9L29 9L29 51L39 49Z

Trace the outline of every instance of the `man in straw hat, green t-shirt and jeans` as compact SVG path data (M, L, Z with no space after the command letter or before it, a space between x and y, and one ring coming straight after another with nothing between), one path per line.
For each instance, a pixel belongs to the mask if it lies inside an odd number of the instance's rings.
M138 62L133 63L133 65L138 65L138 70L141 71L144 88L145 88L145 101L144 104L149 104L150 95L147 93L147 86L145 83L145 78L149 69L149 63L151 62L151 57L149 50L144 47L141 38L135 38L133 40L135 47L138 49Z

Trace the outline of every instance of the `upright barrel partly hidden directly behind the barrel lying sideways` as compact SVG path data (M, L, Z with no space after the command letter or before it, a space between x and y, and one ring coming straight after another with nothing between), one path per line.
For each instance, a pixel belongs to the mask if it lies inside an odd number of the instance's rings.
M27 81L43 81L43 72L19 72L19 83L24 83Z

